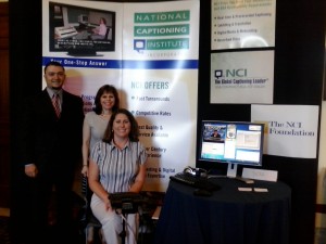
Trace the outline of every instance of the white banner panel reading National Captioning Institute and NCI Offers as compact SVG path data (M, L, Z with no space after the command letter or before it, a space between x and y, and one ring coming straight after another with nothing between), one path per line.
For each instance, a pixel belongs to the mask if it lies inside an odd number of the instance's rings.
M124 101L149 155L146 190L162 191L196 159L199 1L124 7Z

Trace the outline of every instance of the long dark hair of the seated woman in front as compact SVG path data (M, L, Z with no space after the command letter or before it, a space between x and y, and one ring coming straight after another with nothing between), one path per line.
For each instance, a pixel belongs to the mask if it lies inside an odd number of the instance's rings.
M127 111L126 108L118 108L117 111L115 111L110 120L109 120L109 124L108 124L108 127L106 127L106 130L104 132L104 137L103 137L103 142L108 142L110 143L112 140L113 140L113 121L116 117L116 115L118 114L124 114L128 117L130 124L131 124L131 129L130 129L130 133L129 133L129 140L130 141L139 141L139 128L138 128L138 123L136 120L136 118L134 117L134 115Z

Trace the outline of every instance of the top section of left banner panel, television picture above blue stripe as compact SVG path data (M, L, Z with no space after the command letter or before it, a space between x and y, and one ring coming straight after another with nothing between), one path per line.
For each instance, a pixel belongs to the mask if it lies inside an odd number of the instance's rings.
M122 18L123 7L114 2L43 0L43 55L95 68L103 66L100 61L121 59Z

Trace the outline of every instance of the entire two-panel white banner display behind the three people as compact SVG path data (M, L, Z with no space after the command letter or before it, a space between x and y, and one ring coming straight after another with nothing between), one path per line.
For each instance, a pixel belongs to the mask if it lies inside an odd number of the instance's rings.
M42 3L43 65L66 67L65 89L85 112L100 86L117 88L149 155L143 190L165 191L171 175L196 164L199 1ZM95 40L100 18L110 31Z

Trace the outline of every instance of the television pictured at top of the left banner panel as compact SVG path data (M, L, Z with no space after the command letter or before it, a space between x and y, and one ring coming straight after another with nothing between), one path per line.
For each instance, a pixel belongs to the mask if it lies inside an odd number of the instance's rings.
M115 50L115 12L49 2L51 52L72 56L98 55Z

